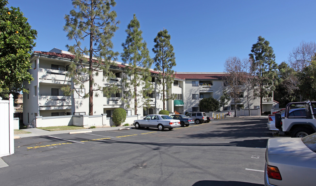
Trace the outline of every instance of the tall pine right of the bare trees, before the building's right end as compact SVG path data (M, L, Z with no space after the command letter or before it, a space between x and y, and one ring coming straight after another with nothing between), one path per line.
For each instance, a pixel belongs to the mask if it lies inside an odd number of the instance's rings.
M277 64L273 48L269 46L269 41L263 37L258 37L258 42L252 45L249 54L253 60L253 68L259 81L260 110L262 112L262 102L264 97L268 97L275 90L273 79L276 77Z

